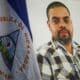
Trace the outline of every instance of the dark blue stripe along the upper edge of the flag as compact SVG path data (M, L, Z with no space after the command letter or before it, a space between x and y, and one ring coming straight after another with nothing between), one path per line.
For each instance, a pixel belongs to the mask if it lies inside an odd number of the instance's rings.
M29 30L32 39L32 33L28 20L26 0L7 0L7 1L11 5L11 7L16 11L17 15L23 20L24 24Z

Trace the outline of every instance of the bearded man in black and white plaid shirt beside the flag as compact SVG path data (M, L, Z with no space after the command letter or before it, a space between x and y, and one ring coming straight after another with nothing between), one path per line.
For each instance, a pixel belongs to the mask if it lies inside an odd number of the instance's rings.
M52 2L47 18L52 40L37 51L42 79L80 80L80 46L72 40L69 9L61 2Z

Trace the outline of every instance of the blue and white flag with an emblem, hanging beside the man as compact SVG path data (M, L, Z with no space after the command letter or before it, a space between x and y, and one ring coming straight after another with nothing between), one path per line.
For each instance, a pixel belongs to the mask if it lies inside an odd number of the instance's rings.
M0 80L40 80L25 0L0 0Z

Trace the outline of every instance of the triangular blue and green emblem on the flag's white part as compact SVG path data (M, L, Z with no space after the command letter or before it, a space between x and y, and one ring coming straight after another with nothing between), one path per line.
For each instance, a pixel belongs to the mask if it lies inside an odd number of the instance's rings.
M0 37L0 51L7 67L11 70L16 50L19 30Z

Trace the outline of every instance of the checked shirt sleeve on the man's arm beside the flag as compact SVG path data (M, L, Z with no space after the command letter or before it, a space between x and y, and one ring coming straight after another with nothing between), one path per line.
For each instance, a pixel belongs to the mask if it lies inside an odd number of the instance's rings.
M42 80L54 80L52 79L53 74L51 73L50 64L48 63L46 58L38 54L37 60L38 60Z

